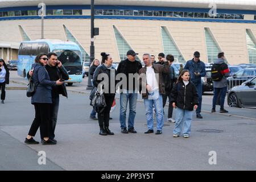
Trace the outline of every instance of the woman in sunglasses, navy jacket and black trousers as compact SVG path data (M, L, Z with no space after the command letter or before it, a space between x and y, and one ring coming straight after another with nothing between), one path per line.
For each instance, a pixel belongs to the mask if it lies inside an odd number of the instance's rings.
M40 126L40 132L43 139L42 144L56 144L56 141L49 139L51 104L52 104L52 86L61 85L59 80L50 81L46 64L48 57L46 53L40 53L35 58L35 64L32 64L32 81L36 85L36 92L31 97L31 104L35 107L35 119L32 122L30 131L25 139L27 144L38 144L33 137Z

